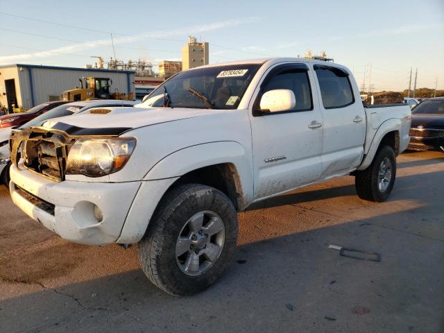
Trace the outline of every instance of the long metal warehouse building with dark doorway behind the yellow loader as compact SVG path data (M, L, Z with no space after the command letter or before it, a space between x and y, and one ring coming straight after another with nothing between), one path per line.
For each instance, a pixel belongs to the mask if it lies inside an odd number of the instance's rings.
M135 93L135 71L86 69L39 65L0 66L0 106L12 111L32 108L46 101L58 101L63 91L80 87L79 78L97 77L112 80L111 91ZM127 95L128 96L128 95Z

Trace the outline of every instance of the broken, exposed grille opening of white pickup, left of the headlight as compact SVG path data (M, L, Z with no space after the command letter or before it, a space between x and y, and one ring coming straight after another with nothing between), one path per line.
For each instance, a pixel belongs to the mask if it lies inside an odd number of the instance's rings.
M11 159L17 167L22 161L27 169L60 182L65 180L67 156L73 143L73 139L60 133L40 128L22 130L10 139Z

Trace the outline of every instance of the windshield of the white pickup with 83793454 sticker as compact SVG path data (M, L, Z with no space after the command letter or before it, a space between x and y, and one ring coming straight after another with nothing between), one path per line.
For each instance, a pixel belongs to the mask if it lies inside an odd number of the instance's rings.
M260 64L205 67L182 71L157 87L153 107L236 109Z

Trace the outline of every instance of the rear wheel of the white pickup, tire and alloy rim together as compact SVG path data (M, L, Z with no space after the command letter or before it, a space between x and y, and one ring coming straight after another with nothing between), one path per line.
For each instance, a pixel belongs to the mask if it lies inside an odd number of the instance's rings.
M364 200L385 201L391 194L396 178L396 156L391 146L384 146L370 166L357 171L355 187L359 198Z

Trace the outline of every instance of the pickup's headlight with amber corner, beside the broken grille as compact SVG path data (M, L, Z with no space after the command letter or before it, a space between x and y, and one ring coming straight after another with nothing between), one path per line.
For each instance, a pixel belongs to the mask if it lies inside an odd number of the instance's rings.
M101 177L119 171L135 144L134 138L78 139L68 154L67 174Z

